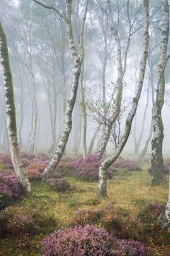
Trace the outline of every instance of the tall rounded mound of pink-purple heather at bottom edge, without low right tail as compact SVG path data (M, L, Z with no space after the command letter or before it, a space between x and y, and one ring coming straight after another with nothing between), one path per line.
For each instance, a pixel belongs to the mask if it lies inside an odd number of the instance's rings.
M44 256L112 255L112 241L104 229L76 226L60 229L41 242Z

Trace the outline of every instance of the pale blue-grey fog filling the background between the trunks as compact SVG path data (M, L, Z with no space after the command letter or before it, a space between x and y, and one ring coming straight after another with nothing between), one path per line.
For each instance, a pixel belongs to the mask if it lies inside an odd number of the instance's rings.
M68 46L66 35L66 24L61 17L51 9L45 9L34 1L7 1L1 0L0 15L1 22L6 33L6 40L9 47L9 58L12 68L14 83L14 100L17 114L17 131L19 145L22 151L29 151L35 122L35 147L33 152L41 151L47 153L50 146L58 143L63 131L63 121L66 111L66 101L71 92L71 80L73 76L73 61ZM60 12L65 12L66 5L63 1L42 1L43 4L55 6ZM122 99L125 101L120 122L121 134L125 127L125 119L130 110L131 101L135 94L136 80L140 69L140 58L143 53L143 1L130 1L130 20L134 23L128 49L127 68L123 77ZM79 11L77 8L79 5ZM84 13L84 3L73 1L73 37L76 41L77 51L79 49L80 21ZM110 92L117 82L117 59L116 42L109 29L107 15L104 13L106 5L104 1L90 1L84 30L84 95L86 98L87 125L86 145L87 150L99 122L94 120L88 110L88 104L99 101L109 101ZM123 1L113 3L115 12L114 19L117 22L117 30L122 45L122 58L125 56L125 49L128 40L128 14L127 6ZM119 17L117 16L119 10ZM134 153L134 135L138 139L143 124L148 93L148 108L143 128L143 136L140 141L140 149L148 138L151 127L152 115L152 88L156 90L159 44L161 40L161 9L160 1L151 1L150 7L150 45L148 59L151 67L147 64L143 90L138 104L138 110L133 120L133 127L125 146L127 151ZM80 20L79 20L80 19ZM169 49L168 49L169 51ZM105 61L105 62L104 62ZM105 65L105 67L104 67ZM162 116L164 119L164 150L169 150L169 63L165 71L165 101ZM4 80L1 70L1 150L9 150L6 132L6 111L4 100ZM152 81L151 81L152 80ZM112 83L113 82L113 83ZM149 88L149 89L148 89ZM83 125L82 114L82 91L79 82L79 89L76 103L73 108L72 129L66 146L66 153L82 154L83 151ZM111 112L114 112L112 108ZM35 119L34 116L36 115ZM101 140L104 125L100 127L99 134L94 143L93 152L97 150L97 144ZM53 129L53 132L52 132ZM55 140L55 141L54 141ZM79 148L76 150L75 148ZM107 154L112 153L115 145L108 142ZM53 148L54 150L54 148ZM53 153L53 150L50 153ZM148 150L151 150L151 142Z

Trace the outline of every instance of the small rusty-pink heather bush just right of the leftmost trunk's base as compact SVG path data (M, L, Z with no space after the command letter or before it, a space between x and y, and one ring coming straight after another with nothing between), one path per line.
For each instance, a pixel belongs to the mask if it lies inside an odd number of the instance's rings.
M30 166L27 166L27 168L25 168L28 178L30 179L30 181L33 180L40 180L42 179L42 171L44 171L46 168L45 163L31 163Z

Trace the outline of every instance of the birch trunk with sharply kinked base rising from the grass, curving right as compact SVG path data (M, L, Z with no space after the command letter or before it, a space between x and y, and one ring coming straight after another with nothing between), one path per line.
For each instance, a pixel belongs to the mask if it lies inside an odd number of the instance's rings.
M128 117L125 122L125 130L124 134L120 138L120 143L117 145L117 148L115 149L115 152L110 155L108 158L103 161L99 167L99 186L98 186L98 195L99 197L107 197L107 170L109 166L112 165L112 163L115 162L117 157L122 152L123 148L125 147L125 144L128 140L128 137L130 135L130 130L132 127L133 118L135 116L135 112L138 108L138 102L140 100L140 94L143 88L143 80L145 77L145 71L146 71L146 61L148 57L148 0L143 0L144 4L144 26L143 26L143 56L140 61L140 72L138 77L138 86L137 90L135 92L135 97L133 98L133 103L131 110L128 114Z

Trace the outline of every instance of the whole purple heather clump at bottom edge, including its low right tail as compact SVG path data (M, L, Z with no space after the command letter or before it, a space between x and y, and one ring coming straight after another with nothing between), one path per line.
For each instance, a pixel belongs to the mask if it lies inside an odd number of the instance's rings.
M138 241L115 239L105 229L89 225L55 231L42 240L41 249L44 256L145 256L147 253L144 244Z

